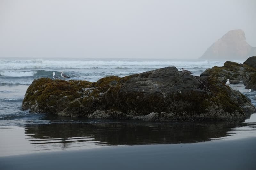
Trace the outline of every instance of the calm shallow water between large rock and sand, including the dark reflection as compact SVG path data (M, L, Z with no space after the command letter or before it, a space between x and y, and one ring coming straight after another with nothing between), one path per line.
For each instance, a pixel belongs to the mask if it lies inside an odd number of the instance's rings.
M142 122L48 117L0 126L0 157L114 145L184 144L256 137L256 113L245 122ZM8 144L8 145L7 145Z

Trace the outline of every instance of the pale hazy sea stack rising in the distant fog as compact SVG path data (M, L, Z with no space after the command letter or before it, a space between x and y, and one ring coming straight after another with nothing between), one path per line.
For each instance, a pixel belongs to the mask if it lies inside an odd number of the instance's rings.
M246 60L256 55L256 47L245 40L243 30L231 30L212 44L200 59L204 60Z

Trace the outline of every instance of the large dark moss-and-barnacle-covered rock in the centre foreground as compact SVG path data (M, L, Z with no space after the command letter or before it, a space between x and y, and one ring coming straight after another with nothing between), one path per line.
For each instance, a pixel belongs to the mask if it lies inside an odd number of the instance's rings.
M27 89L22 109L62 116L164 120L226 120L255 111L251 101L211 76L165 67L97 82L40 78Z

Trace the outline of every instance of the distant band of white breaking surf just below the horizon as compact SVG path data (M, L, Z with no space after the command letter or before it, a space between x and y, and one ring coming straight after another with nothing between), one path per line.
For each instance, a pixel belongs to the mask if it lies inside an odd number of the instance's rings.
M219 61L96 61L96 60L0 60L0 69L44 69L44 68L107 68L107 69L136 69L160 68L167 66L193 68L222 66Z

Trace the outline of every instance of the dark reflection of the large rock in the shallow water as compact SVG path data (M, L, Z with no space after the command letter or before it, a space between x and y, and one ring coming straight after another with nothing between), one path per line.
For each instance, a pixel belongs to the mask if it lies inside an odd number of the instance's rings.
M26 125L31 144L55 145L80 142L81 145L145 145L209 141L227 136L237 123L145 123L145 122L69 122ZM85 143L84 143L85 142ZM80 145L80 146L81 146Z

